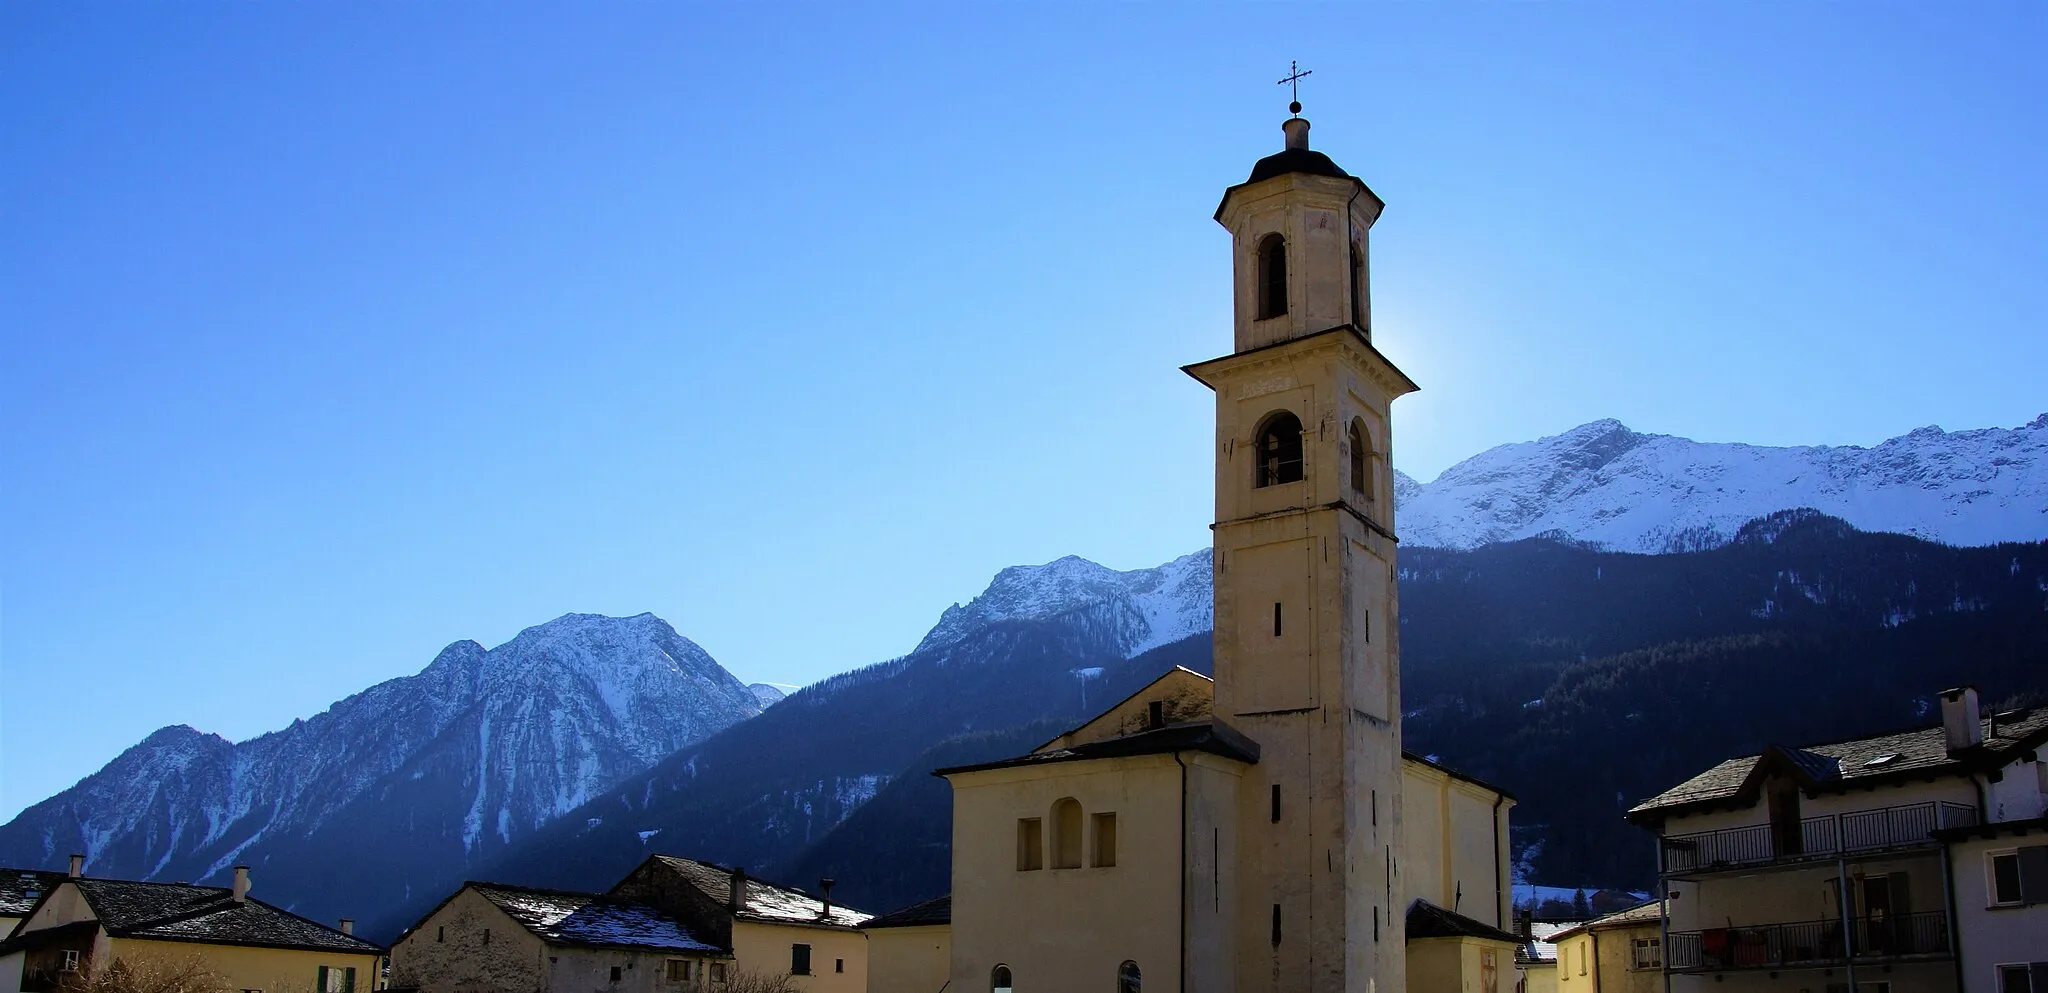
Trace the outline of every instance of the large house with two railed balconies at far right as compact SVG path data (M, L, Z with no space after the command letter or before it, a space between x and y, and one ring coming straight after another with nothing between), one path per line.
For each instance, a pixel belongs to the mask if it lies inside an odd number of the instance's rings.
M1974 688L1939 704L1935 727L1774 745L1628 811L1661 835L1673 993L2042 989L2025 866L2048 897L2048 850L2025 837L2048 813L2048 708L1982 715Z

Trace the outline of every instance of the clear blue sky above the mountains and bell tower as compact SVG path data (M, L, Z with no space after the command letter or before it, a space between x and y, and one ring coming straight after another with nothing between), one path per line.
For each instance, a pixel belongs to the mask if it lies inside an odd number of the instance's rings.
M811 682L1202 547L1288 59L1411 475L2048 409L2038 2L18 0L0 817L569 610Z

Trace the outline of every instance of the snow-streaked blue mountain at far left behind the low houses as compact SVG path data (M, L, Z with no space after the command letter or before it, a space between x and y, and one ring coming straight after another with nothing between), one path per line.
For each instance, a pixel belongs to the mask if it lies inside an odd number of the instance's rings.
M567 614L489 651L459 641L250 741L166 727L0 827L0 862L82 852L94 874L209 880L346 844L362 848L350 878L406 887L420 864L473 864L756 713L662 618ZM287 876L317 876L297 862Z

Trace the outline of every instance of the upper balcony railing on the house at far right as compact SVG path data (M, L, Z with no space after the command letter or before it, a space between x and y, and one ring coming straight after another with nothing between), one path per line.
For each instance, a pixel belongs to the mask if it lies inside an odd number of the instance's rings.
M1663 870L1700 872L1925 846L1937 827L1972 827L1976 809L1962 803L1911 803L1831 813L1792 823L1726 827L1663 839Z

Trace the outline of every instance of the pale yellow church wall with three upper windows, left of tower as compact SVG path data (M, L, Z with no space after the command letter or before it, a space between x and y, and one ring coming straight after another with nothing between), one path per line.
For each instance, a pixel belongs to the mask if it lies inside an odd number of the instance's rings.
M1188 874L1182 876L1182 776ZM1053 762L952 774L950 989L987 989L997 964L1018 989L1114 989L1137 962L1147 989L1182 989L1180 899L1188 899L1190 993L1229 989L1235 864L1235 764L1200 753ZM1053 868L1053 805L1081 823L1116 815L1116 864ZM1044 825L1042 866L1018 868L1018 821ZM1092 831L1087 831L1092 835ZM1219 868L1219 862L1223 868Z

